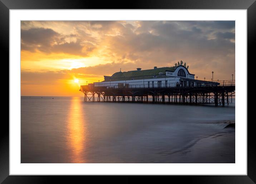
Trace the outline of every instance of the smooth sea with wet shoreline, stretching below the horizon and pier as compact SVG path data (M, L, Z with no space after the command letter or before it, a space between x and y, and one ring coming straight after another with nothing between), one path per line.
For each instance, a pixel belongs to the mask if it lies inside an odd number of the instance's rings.
M235 103L21 97L21 163L235 163L235 128L224 128L226 120L235 120Z

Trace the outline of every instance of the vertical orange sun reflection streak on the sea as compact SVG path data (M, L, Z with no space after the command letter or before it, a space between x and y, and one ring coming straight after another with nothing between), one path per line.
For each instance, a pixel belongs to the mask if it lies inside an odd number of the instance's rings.
M82 104L79 97L73 97L68 119L67 142L70 148L72 163L85 163L85 125L82 112Z

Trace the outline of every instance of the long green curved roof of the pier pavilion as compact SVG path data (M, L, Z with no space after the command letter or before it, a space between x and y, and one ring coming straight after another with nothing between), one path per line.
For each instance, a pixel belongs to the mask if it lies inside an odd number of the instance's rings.
M127 72L116 72L114 73L110 78L112 81L117 80L137 80L137 79L143 79L143 78L152 78L153 76L159 77L159 73L163 73L163 75L166 74L166 71L174 72L177 67L162 67L162 68L155 68L155 69L149 69L149 70L133 70L133 71L127 71ZM109 81L109 80L105 80Z

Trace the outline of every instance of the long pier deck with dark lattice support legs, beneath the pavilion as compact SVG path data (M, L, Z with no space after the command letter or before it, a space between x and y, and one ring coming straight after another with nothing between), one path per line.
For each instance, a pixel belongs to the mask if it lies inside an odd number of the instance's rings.
M225 106L235 96L235 80L165 83L164 85L80 86L84 101ZM96 99L97 98L97 99Z

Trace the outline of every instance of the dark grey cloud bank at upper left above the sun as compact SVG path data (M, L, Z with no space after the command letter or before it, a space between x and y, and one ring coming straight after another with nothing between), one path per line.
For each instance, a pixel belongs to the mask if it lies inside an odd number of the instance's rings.
M21 29L21 50L87 56L94 46L90 42L82 42L77 36L75 34L61 35L48 28Z

